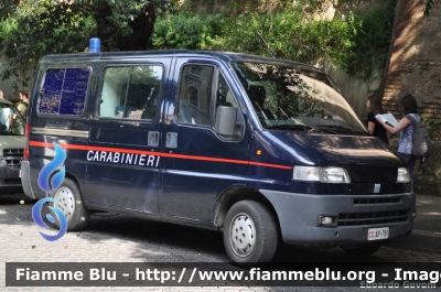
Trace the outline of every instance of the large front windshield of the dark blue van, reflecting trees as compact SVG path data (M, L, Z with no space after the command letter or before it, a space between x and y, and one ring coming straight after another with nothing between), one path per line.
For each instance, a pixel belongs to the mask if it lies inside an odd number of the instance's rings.
M326 74L279 64L233 65L265 129L368 134Z

